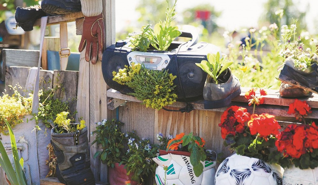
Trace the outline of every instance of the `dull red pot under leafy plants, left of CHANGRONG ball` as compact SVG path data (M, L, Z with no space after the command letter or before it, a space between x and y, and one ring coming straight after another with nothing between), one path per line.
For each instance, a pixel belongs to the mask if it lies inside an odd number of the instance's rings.
M131 185L137 185L136 181L131 180L131 174L127 175L127 170L124 168L125 165L115 163L114 168L108 167L108 181L110 185L123 185L126 181L130 181Z

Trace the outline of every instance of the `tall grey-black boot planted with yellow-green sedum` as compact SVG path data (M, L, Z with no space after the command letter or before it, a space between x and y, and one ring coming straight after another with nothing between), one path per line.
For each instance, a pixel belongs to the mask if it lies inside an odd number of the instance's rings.
M95 185L89 159L87 128L71 133L54 133L51 143L57 157L59 181L68 185Z

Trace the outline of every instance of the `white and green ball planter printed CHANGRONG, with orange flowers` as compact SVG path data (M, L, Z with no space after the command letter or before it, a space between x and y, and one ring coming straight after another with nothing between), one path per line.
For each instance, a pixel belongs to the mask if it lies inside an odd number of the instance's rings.
M193 166L190 164L190 157L188 156L168 153L152 160L159 165L155 176L157 185L164 185L165 181L169 185L214 185L216 161L201 161L204 167L203 173L197 177L193 172ZM168 166L166 174L163 166Z

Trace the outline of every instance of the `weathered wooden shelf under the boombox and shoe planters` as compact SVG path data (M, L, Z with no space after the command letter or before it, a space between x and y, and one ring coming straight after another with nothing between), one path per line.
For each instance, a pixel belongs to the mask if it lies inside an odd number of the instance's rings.
M248 101L245 99L244 95L245 92L248 91L251 88L241 88L241 94L237 97L235 97L232 100L231 105L237 105L241 107L247 108L249 112L253 111L253 106L248 106ZM272 90L272 89L266 89L268 95L265 96L264 104L259 105L255 109L256 114L261 113L268 113L275 116L282 116L282 117L294 117L294 115L287 114L288 106L290 103L294 102L293 98L282 98L279 96L278 90ZM120 92L114 90L114 89L108 89L107 90L107 97L112 97L115 99L122 99L126 101L132 101L132 102L142 102L135 98L134 96L124 95ZM304 101L306 100L310 107L312 107L311 111L312 113L306 116L307 118L318 118L318 96L317 94L308 96L306 98L299 98L299 100ZM198 110L213 110L213 111L219 111L223 112L227 109L227 107L218 108L218 109L204 109L203 100L195 101L195 102L189 102L193 105L194 109ZM184 108L186 106L186 103L184 102L175 102L172 105L169 105L170 107L177 107L177 108Z

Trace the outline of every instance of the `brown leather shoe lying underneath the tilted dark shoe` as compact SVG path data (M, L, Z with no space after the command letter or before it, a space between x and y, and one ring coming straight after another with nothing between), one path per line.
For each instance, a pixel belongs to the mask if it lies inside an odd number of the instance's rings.
M291 98L309 95L308 90L298 88L296 86L292 86L284 82L280 84L279 93L280 93L280 96L282 97L291 97Z

